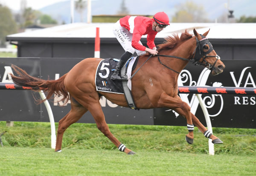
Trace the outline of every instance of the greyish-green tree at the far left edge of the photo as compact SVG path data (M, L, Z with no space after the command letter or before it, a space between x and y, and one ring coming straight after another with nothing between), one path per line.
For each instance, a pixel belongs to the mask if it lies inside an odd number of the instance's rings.
M12 17L12 13L8 7L0 4L0 46L6 46L6 35L17 32L17 25Z

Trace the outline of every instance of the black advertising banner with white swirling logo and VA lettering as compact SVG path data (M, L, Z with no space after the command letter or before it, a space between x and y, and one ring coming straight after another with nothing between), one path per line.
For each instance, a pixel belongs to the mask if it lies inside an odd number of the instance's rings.
M212 76L201 66L188 64L180 73L179 86L256 87L256 61L223 61L224 72ZM189 104L191 112L205 125L199 101L193 94L179 94ZM240 92L239 95L201 95L207 107L212 127L256 128L256 96ZM184 118L167 108L154 109L154 124L181 125Z

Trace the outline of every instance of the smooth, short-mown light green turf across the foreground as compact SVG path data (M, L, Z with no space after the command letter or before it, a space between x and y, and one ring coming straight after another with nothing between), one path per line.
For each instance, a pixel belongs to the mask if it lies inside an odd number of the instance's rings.
M1 176L253 176L256 159L250 155L205 154L139 150L134 156L116 150L3 147Z

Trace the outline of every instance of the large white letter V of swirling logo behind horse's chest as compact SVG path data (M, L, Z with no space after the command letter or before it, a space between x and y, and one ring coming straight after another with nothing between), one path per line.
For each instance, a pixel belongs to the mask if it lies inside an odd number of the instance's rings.
M198 82L197 82L196 86L206 86L206 82L207 82L207 79L208 79L210 73L211 73L211 71L209 69L204 68L204 70L201 72L201 74L198 78ZM178 86L183 86L180 76L178 78ZM191 86L191 85L189 85L189 86ZM188 94L180 93L179 95L180 95L180 98L182 99L182 101L185 101L191 107L190 112L195 114L196 110L198 108L198 104L199 104L198 98L196 98L195 94L193 94L190 102L189 102ZM202 95L199 94L199 96L202 96Z

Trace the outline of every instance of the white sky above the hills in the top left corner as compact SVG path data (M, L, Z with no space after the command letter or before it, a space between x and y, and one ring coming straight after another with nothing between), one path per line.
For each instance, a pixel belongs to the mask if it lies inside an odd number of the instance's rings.
M26 0L27 7L31 7L32 9L38 10L42 7L49 6L54 3L58 3L61 1L67 0ZM0 0L0 3L9 7L12 10L20 10L20 2L21 0Z

